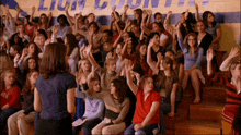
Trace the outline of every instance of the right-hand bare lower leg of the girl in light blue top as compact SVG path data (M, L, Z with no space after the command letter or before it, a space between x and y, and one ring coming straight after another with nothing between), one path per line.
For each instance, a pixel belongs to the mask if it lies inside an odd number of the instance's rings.
M191 71L191 79L192 79L193 88L195 90L195 99L193 103L199 103L200 102L200 83L198 79L197 69Z

